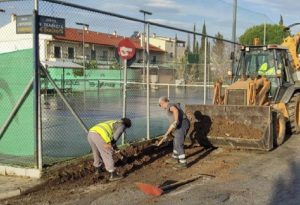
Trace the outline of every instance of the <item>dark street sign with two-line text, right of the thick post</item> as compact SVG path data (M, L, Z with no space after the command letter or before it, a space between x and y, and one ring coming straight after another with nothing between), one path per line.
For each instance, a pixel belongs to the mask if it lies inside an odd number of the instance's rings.
M65 35L65 19L39 16L39 32L57 36Z

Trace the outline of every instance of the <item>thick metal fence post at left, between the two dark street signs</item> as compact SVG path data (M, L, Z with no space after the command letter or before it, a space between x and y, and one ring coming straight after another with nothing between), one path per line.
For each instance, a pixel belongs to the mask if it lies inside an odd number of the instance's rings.
M43 168L42 162L42 131L41 131L41 93L40 93L40 70L39 70L39 1L34 1L33 11L33 69L34 69L34 132L36 138L36 163L39 170Z

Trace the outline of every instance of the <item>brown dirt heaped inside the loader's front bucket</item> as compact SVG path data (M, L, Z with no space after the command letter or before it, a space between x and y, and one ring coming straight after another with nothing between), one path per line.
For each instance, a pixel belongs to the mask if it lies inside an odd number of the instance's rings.
M260 139L263 136L263 132L243 123L222 118L214 118L208 135L212 137Z

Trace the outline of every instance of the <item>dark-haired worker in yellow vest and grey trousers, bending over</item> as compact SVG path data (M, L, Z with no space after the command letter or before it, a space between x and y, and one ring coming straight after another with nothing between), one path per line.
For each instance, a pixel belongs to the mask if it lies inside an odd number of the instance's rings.
M113 153L118 139L130 127L131 120L122 118L101 122L89 130L87 138L92 148L96 173L103 172L105 168L110 173L109 181L122 179L115 171Z

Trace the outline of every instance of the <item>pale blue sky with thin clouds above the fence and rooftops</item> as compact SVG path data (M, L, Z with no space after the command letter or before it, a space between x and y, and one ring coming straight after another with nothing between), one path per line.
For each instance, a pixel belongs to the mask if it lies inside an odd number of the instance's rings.
M201 32L205 22L207 33L214 36L220 32L224 38L231 39L232 36L232 2L233 0L64 0L66 2L79 4L95 9L122 14L138 19L143 19L139 12L144 9L152 12L146 16L147 20L171 25L179 28L192 30L196 25L196 31ZM0 25L9 14L28 14L31 12L32 4L24 1L3 2L0 8L6 10L6 14L0 13ZM28 1L27 1L28 2ZM237 36L245 29L261 23L278 23L280 15L283 16L285 25L300 22L299 0L237 0ZM75 22L88 23L91 30L112 33L117 31L120 35L130 35L134 31L143 30L143 25L125 20L99 15L68 7L58 7L49 3L40 4L40 13L43 15L66 18L67 26L75 27ZM7 16L5 16L7 15ZM3 16L3 18L1 18ZM77 26L78 27L78 26ZM300 26L293 29L300 31ZM187 38L187 34L151 27L150 33L157 35L179 36ZM184 40L184 39L183 39Z

